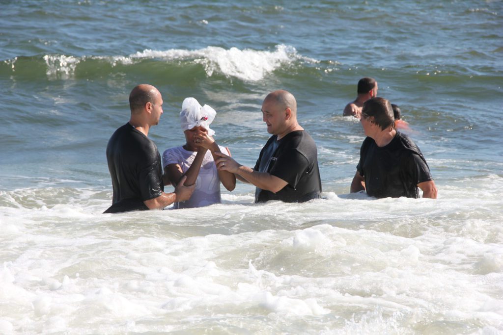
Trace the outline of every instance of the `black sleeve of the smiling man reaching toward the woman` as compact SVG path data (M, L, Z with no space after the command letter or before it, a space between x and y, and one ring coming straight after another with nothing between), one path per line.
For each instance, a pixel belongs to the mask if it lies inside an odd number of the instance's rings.
M309 169L307 158L295 149L289 149L281 154L269 172L271 175L286 181L293 188Z

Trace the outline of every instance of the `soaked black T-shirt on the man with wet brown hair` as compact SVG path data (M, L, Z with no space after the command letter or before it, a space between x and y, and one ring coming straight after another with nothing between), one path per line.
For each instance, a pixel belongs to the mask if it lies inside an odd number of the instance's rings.
M421 150L399 132L381 148L367 137L360 149L356 169L365 179L367 194L377 198L417 198L417 184L433 180Z

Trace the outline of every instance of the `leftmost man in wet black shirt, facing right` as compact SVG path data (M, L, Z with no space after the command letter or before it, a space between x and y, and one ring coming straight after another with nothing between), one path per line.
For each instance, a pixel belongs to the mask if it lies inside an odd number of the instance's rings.
M195 186L184 186L183 182L175 192L164 193L160 155L148 138L150 127L159 124L162 102L159 90L152 85L138 85L129 94L131 118L107 145L114 193L112 206L105 213L161 209L191 197Z

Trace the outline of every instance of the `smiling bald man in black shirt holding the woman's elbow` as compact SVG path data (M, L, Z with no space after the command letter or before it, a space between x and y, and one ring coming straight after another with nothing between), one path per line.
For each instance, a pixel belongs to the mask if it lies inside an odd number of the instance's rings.
M297 102L288 91L276 90L262 103L263 121L273 134L253 169L216 153L218 169L230 171L257 186L255 202L304 202L319 198L318 152L311 136L297 122Z

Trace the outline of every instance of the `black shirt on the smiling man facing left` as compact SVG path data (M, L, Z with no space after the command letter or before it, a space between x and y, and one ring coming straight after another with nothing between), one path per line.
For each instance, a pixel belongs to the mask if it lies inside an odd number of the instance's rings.
M255 202L303 202L319 198L318 151L312 137L306 131L294 131L279 141L277 138L273 135L267 141L254 170L269 172L288 184L276 193L257 188Z

